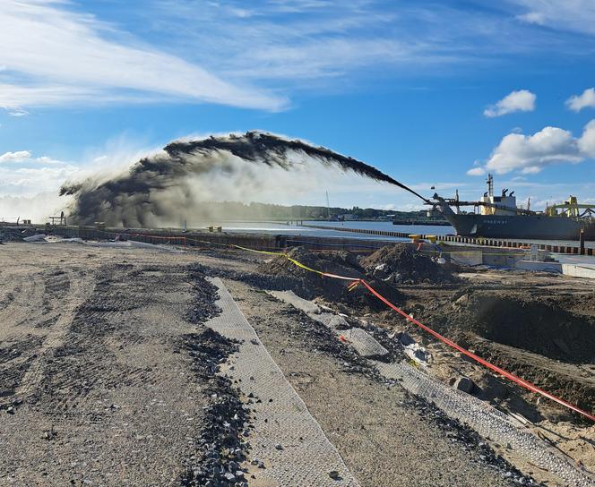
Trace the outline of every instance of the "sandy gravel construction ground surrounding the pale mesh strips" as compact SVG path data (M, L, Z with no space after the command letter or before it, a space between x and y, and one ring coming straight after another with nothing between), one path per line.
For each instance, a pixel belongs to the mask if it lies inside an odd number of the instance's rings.
M213 346L205 328L217 310L204 278L215 276L360 485L514 485L515 466L522 482L556 485L512 454L505 457L514 465L490 464L470 431L439 420L398 384L378 380L323 325L266 294L267 284L282 287L263 275L270 260L225 250L0 245L0 485L200 485L197 472L215 448L201 440L213 426L213 395L235 393L209 377L214 365L205 372L194 360L203 349L213 364L231 360L233 346ZM461 269L458 276L453 283L399 285L398 304L592 411L595 363L584 343L590 331L576 324L595 315L591 281L498 270ZM390 331L407 330L431 353L429 373L446 382L470 377L477 397L527 418L595 470L592 424L496 379L392 312L317 301ZM549 316L565 319L563 337L544 335L539 340L551 343L535 346L531 329L514 339L497 334L497 321L513 320L503 310L518 306L525 319L535 303L550 306L541 318L546 328ZM479 326L476 304L496 316ZM248 430L240 433L250 440ZM491 447L505 454L505 446ZM243 440L240 449L246 460L238 463L249 466ZM273 485L249 474L242 482Z

